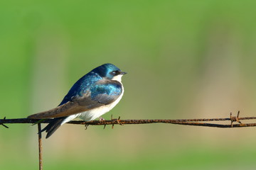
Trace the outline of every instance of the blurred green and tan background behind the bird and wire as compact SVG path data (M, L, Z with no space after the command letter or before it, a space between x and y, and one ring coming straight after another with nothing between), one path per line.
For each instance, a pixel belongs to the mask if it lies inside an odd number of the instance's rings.
M105 119L228 118L256 111L256 1L0 1L0 117L58 106L110 62L122 101ZM255 128L63 125L45 169L255 169ZM1 169L38 169L37 128L0 126ZM45 135L45 134L44 134Z

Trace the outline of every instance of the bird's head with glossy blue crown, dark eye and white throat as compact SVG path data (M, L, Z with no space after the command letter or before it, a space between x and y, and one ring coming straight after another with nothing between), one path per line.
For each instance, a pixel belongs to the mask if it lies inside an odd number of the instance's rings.
M97 74L100 74L100 76L103 77L104 79L111 79L111 80L117 80L117 81L121 81L122 76L124 74L127 74L126 72L122 72L114 64L110 64L110 63L103 64L93 69L92 71L96 72Z

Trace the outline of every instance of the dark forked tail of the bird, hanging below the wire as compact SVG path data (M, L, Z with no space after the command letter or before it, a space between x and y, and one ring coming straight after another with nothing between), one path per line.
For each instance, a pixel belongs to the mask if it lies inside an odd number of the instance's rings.
M40 133L46 131L47 132L46 139L47 139L48 137L53 135L55 130L60 128L60 125L63 123L65 118L67 118L67 117L54 118L54 119L50 120L50 123L46 126L46 128L43 128L43 130L41 130Z

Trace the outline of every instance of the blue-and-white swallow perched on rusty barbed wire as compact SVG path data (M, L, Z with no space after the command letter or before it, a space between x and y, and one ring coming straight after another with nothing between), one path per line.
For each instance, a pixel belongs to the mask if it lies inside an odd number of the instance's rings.
M29 115L28 118L50 119L48 125L40 131L46 131L46 139L61 125L75 118L84 121L101 118L121 100L124 94L121 82L124 74L127 72L122 72L114 64L102 64L76 81L58 107Z

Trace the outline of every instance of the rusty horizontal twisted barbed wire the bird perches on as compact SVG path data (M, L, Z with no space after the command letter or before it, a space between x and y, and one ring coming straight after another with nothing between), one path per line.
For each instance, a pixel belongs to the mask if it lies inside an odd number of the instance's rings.
M82 120L78 121L70 121L69 124L75 125L131 125L131 124L148 124L148 123L171 123L171 124L178 124L178 125L193 125L193 126L206 126L206 127L215 127L215 128L242 128L242 127L252 127L256 126L256 123L241 123L240 120L254 120L256 117L244 117L239 118L240 112L238 111L237 116L232 116L230 114L230 118L203 118L203 119L176 119L176 120L162 120L162 119L155 119L155 120L121 120L120 118L111 120L92 120L89 122L85 122ZM215 124L215 123L199 123L199 122L211 122L211 121L231 121L229 124ZM28 118L20 118L20 119L0 119L0 125L4 123L37 123L38 119L28 119ZM237 122L239 124L233 124ZM49 123L49 119L43 120L41 123Z

